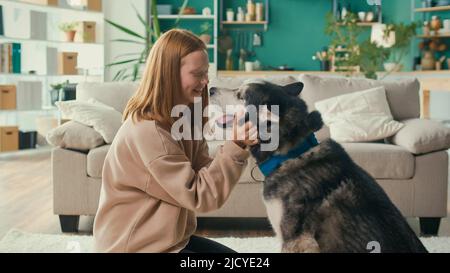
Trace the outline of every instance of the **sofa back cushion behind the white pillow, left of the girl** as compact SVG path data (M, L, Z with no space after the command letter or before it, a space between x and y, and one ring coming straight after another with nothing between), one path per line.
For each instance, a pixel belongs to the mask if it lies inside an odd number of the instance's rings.
M88 101L94 98L123 113L128 100L137 88L138 83L130 82L80 83L77 85L77 100Z

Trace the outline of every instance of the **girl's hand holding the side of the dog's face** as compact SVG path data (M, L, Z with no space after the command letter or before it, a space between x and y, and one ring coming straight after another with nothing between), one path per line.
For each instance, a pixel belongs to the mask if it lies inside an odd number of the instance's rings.
M258 129L251 121L239 125L239 120L245 118L245 112L239 111L233 121L233 141L242 148L258 144Z

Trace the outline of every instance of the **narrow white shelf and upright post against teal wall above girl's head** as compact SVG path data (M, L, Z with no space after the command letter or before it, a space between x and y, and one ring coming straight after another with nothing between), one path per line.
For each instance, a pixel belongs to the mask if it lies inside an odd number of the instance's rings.
M213 9L211 15L201 15L201 14L192 14L192 15L158 15L159 20L210 20L213 21L213 35L211 37L212 44L207 45L207 48L213 50L213 61L209 64L209 75L210 77L215 77L217 75L217 65L218 65L218 56L217 56L217 38L218 38L218 28L219 28L219 0L213 0Z

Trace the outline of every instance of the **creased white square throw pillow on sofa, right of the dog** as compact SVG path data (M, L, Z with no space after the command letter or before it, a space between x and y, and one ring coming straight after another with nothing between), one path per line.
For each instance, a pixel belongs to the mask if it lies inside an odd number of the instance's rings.
M338 142L380 140L403 127L392 117L383 86L318 101L315 106Z

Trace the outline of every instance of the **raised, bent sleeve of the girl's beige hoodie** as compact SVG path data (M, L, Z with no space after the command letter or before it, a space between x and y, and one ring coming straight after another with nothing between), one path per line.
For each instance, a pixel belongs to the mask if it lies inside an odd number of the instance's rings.
M177 142L164 138L162 135L168 153L147 165L154 182L184 208L195 212L220 208L246 167L249 152L227 141L211 159L204 141L196 159L203 167L196 172ZM152 188L148 191L151 194Z

